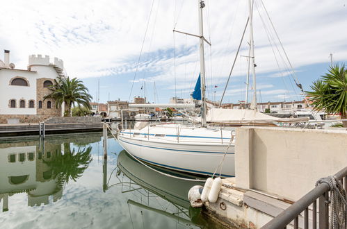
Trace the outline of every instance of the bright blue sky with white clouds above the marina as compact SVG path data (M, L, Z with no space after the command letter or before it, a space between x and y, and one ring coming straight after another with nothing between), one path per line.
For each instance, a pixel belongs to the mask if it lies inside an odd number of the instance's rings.
M61 58L67 75L83 80L93 101L102 103L134 96L168 103L193 92L199 39L172 30L198 34L197 0L0 2L5 6L0 50L10 50L18 69L26 69L31 54ZM211 42L204 44L207 97L218 101L249 15L248 1L204 2L204 37ZM347 0L254 0L258 102L301 100L293 78L309 90L331 60L347 62L346 5ZM224 103L245 100L248 40L247 28ZM251 75L249 97L252 84Z

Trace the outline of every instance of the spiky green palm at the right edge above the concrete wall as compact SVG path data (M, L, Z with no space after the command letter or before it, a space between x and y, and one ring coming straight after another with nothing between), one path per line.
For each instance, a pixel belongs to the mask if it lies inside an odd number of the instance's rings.
M339 114L347 119L347 69L345 65L330 66L329 72L314 81L312 92L306 92L314 110ZM347 121L342 122L347 127Z

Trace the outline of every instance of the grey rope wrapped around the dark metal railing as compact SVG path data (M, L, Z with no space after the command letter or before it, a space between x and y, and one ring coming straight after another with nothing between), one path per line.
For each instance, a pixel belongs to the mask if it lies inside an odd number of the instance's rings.
M329 185L330 194L330 228L347 228L347 193L342 183L336 176L321 178L316 186L326 183Z

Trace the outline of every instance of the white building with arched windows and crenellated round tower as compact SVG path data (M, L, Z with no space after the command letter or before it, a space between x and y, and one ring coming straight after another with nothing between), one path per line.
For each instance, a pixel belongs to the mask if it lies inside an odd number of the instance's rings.
M0 60L0 124L30 123L62 115L54 99L44 100L49 85L63 74L63 60L29 56L28 69L15 69L10 51Z

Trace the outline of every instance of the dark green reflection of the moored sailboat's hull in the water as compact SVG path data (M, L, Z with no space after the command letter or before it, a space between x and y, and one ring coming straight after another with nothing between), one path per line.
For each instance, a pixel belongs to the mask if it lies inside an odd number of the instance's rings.
M122 185L122 193L134 192L136 195L141 195L141 198L138 198L141 200L140 202L128 199L128 205L140 207L141 210L156 212L175 219L185 226L220 228L220 225L217 226L216 222L209 220L208 217L202 217L201 209L191 207L188 201L189 189L193 185L202 185L203 183L165 176L140 164L131 158L127 151L121 151L118 155L117 167L116 176L120 183L115 185ZM160 168L156 167L155 169ZM166 172L172 173L172 171ZM196 178L177 172L172 175ZM104 174L104 176L107 175ZM112 186L104 183L104 187L110 188Z

